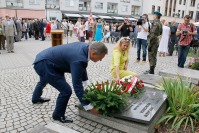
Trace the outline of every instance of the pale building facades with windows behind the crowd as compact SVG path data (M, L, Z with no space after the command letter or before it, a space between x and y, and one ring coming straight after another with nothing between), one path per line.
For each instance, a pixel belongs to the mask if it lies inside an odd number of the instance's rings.
M139 18L140 15L160 11L167 21L183 21L189 14L199 20L199 0L0 0L0 16L20 18L47 18L61 20L78 15ZM72 15L70 15L72 14Z

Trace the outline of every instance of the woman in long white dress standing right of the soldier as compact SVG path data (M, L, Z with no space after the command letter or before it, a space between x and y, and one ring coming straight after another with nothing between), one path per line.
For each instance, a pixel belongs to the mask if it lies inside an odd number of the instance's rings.
M165 56L168 53L168 44L169 44L169 36L170 36L170 27L168 23L163 25L162 37L160 40L160 44L158 47L159 56Z

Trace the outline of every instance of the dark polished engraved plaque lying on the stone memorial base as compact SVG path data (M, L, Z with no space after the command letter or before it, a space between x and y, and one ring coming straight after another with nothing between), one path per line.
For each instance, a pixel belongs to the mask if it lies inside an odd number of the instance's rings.
M167 95L164 91L144 88L139 98L129 98L131 103L122 113L114 115L117 118L149 124L159 109L165 104Z

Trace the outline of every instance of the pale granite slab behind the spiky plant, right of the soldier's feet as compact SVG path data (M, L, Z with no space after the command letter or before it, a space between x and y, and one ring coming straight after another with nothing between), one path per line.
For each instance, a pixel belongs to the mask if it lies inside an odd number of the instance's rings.
M198 70L192 70L188 68L169 68L164 69L159 72L159 75L164 77L172 77L176 78L178 75L182 77L183 80L188 79L190 83L194 83L196 85L199 85L199 71Z

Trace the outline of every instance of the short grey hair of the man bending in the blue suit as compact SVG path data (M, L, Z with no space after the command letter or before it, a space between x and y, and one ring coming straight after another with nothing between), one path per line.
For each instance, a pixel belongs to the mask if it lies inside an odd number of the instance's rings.
M98 55L108 54L108 48L102 42L94 42L89 47L90 47L90 50L94 50Z

